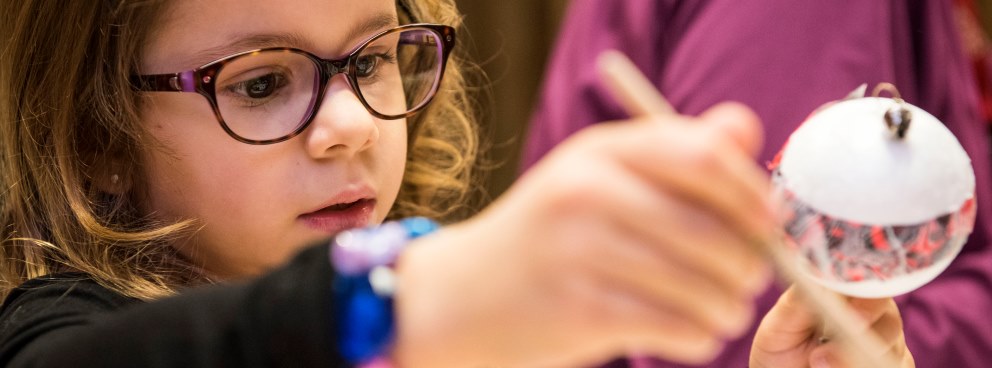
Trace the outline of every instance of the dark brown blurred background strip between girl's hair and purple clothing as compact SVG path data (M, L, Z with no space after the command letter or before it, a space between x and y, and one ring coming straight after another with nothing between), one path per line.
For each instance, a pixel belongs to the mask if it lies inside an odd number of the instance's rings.
M520 145L536 103L545 62L554 43L567 0L456 0L468 37L459 35L489 80L483 105L482 135L486 155L486 197L495 198L513 182ZM483 199L484 203L488 203Z

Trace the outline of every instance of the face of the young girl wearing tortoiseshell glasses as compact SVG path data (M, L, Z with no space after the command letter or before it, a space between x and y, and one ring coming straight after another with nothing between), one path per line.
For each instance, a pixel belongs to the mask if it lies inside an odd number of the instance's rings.
M393 0L182 0L169 7L146 45L143 74L263 47L339 59L397 25ZM256 80L239 92L269 86ZM305 131L271 145L229 136L199 94L145 96L143 124L161 146L150 144L142 157L144 209L155 218L199 220L203 227L176 246L215 276L258 274L309 242L379 223L399 192L406 121L373 117L343 75L329 81Z

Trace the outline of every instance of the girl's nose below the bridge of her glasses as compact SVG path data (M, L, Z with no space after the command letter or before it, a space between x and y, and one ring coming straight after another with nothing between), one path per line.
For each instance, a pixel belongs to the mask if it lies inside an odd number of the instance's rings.
M375 145L377 121L343 75L327 84L324 100L306 133L307 152L314 158L351 157Z

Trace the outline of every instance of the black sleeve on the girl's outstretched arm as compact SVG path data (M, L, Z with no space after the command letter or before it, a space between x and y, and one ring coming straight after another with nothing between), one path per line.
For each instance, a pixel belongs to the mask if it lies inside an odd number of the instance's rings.
M91 280L21 287L0 315L0 367L345 367L333 276L325 245L252 282L151 303Z

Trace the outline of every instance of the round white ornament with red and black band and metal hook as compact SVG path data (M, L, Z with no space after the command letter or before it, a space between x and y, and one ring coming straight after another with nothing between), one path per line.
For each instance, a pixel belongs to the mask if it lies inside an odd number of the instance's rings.
M850 296L930 282L974 227L968 155L937 118L893 93L821 108L773 163L786 243L814 280Z

